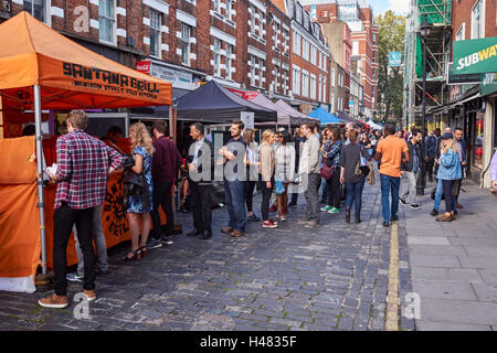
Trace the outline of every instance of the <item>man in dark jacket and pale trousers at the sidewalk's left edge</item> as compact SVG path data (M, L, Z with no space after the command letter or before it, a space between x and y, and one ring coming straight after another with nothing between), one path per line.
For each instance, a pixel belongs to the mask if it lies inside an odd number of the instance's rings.
M406 205L406 197L411 196L412 203L411 208L419 210L420 205L416 203L416 180L419 173L421 172L423 162L423 152L421 151L421 131L414 129L412 130L412 137L408 141L409 156L411 159L408 162L401 164L401 171L408 176L409 188L404 194L400 197L400 202Z

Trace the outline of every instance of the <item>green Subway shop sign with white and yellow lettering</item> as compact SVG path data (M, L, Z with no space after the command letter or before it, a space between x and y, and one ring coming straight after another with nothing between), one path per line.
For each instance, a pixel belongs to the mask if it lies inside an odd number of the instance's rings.
M453 74L486 74L497 71L497 36L454 42Z

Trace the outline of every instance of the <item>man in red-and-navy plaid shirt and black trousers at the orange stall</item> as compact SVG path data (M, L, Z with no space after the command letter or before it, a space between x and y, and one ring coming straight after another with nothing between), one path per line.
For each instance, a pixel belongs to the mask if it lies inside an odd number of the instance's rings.
M55 293L42 298L44 308L65 308L67 300L68 237L76 225L81 244L85 277L83 293L95 300L95 250L92 243L94 207L103 204L107 191L107 176L124 161L121 154L101 140L84 132L88 117L83 110L73 110L67 117L67 133L57 139L57 171L49 175L57 183L53 227L53 267Z

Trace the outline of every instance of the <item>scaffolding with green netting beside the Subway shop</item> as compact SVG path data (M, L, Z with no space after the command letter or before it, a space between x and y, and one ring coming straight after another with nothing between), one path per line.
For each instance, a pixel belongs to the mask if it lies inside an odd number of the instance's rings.
M421 126L424 18L433 25L426 38L426 111L448 103L447 64L452 51L452 0L412 0L405 28L403 126ZM427 116L429 120L434 117Z

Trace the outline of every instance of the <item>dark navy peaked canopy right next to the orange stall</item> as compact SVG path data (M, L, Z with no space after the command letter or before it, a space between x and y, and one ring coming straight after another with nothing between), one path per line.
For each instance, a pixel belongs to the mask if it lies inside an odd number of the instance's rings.
M157 109L156 113L166 113ZM162 111L161 111L162 110ZM231 122L242 111L254 113L254 121L276 121L277 113L243 99L215 81L177 99L177 117L181 120Z

